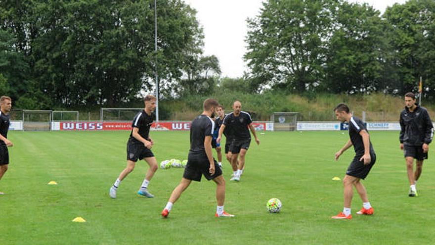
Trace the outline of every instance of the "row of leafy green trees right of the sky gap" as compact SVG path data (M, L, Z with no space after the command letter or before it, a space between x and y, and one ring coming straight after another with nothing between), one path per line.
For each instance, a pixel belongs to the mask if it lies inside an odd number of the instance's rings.
M383 15L345 0L268 0L249 19L245 59L255 89L435 95L435 1Z

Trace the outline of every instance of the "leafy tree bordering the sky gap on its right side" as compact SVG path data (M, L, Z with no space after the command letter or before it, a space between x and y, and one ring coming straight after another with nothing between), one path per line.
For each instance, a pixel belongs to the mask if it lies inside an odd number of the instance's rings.
M340 0L268 0L248 19L245 59L253 82L304 92L323 78ZM260 81L260 82L259 82Z

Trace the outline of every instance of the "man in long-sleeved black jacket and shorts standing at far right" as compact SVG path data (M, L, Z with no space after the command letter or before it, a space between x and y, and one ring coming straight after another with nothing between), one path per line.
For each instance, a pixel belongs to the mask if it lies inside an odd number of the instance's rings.
M434 126L426 108L416 103L415 95L405 95L405 109L400 113L400 149L406 161L409 180L408 196L418 196L417 180L423 170L423 160L428 159L429 144L434 137ZM413 171L416 159L415 173Z

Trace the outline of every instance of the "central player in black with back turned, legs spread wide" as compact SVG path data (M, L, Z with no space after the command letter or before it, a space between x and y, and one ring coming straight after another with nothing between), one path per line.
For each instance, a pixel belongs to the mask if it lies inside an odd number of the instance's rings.
M234 217L223 210L225 201L225 180L222 177L222 170L216 166L213 159L212 138L215 122L214 117L218 103L215 99L208 98L204 101L204 111L193 119L190 126L190 150L187 158L187 165L184 169L183 178L180 184L174 189L168 203L162 211L163 217L168 217L175 201L181 193L189 187L193 181L201 181L201 176L207 180L213 180L216 184L217 210L216 217Z

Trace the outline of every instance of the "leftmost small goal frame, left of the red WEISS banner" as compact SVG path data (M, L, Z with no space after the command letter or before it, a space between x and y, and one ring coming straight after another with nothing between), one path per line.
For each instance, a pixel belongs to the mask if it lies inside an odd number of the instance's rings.
M52 110L23 110L24 131L49 131Z

